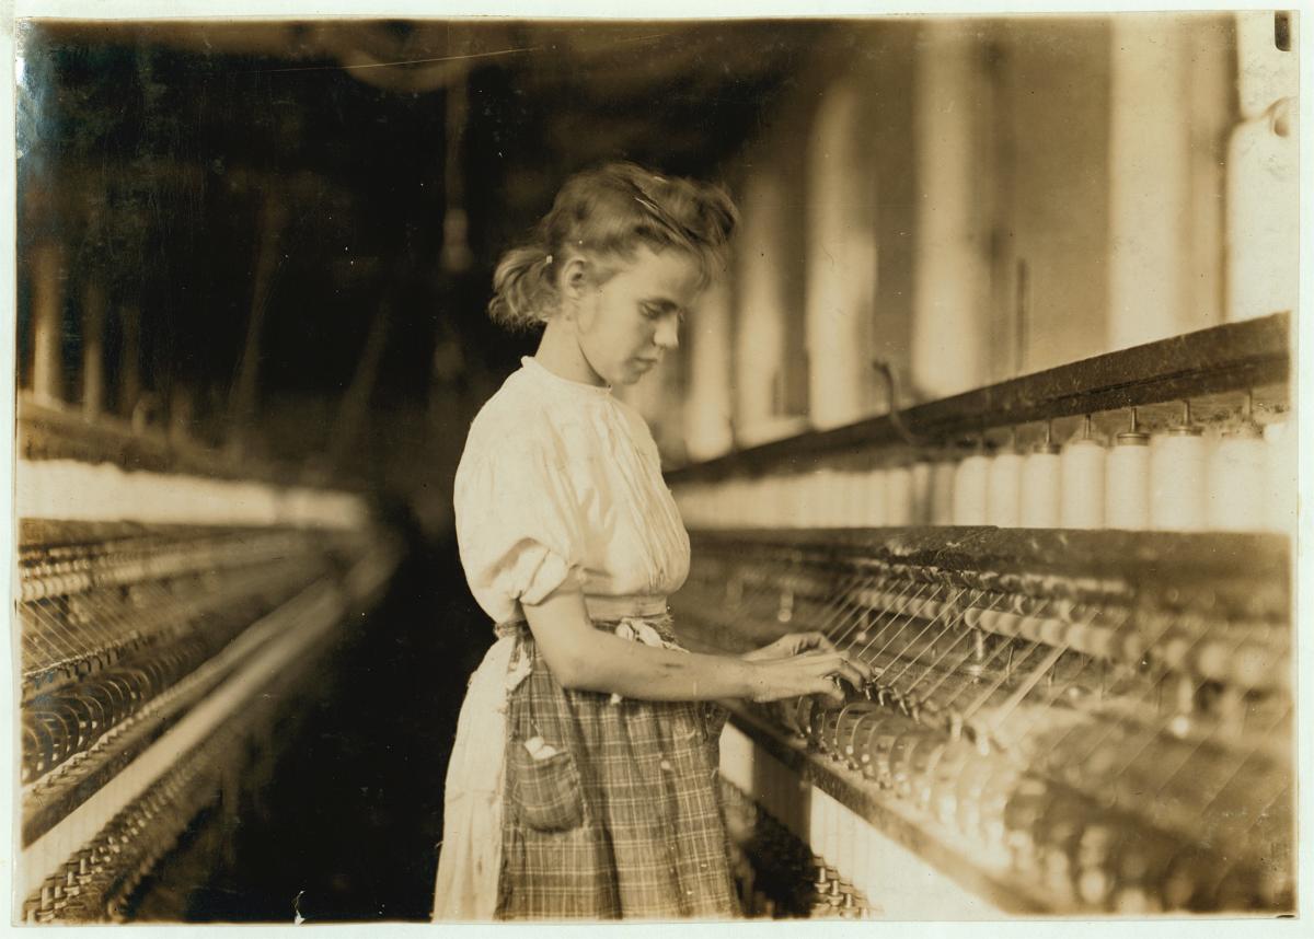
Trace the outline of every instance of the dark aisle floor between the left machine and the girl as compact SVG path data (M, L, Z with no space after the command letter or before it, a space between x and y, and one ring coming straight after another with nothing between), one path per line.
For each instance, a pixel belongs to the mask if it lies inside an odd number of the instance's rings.
M384 600L317 667L259 779L193 827L134 919L428 918L456 714L493 636L455 545L411 541Z

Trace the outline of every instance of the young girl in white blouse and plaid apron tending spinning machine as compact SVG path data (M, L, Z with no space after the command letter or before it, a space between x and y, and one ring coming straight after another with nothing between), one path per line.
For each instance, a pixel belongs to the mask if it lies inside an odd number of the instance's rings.
M666 611L689 536L612 387L675 348L735 221L719 189L615 164L569 180L497 268L493 318L545 326L456 474L461 563L499 638L457 725L436 919L736 915L712 703L870 678L817 633L690 653Z

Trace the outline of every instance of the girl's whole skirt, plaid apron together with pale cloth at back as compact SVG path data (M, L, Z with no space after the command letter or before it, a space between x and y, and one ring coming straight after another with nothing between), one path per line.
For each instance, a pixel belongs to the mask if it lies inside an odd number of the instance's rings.
M598 629L679 649L664 598L586 598ZM717 787L724 708L562 688L523 621L470 679L435 921L740 914Z

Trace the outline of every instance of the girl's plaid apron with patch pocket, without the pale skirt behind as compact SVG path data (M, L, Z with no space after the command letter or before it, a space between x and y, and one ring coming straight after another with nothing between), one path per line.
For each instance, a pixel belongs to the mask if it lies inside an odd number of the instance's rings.
M595 625L674 646L669 617ZM497 915L738 915L717 787L725 709L565 689L528 628L511 628L528 674L507 695Z

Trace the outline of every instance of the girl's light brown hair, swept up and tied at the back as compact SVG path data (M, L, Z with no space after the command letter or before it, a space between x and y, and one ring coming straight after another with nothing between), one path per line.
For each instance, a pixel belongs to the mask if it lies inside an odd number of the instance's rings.
M558 267L572 255L633 256L689 252L708 284L727 263L738 213L720 186L658 176L633 163L611 163L566 180L531 240L502 255L493 273L489 315L509 328L545 322L560 305Z

